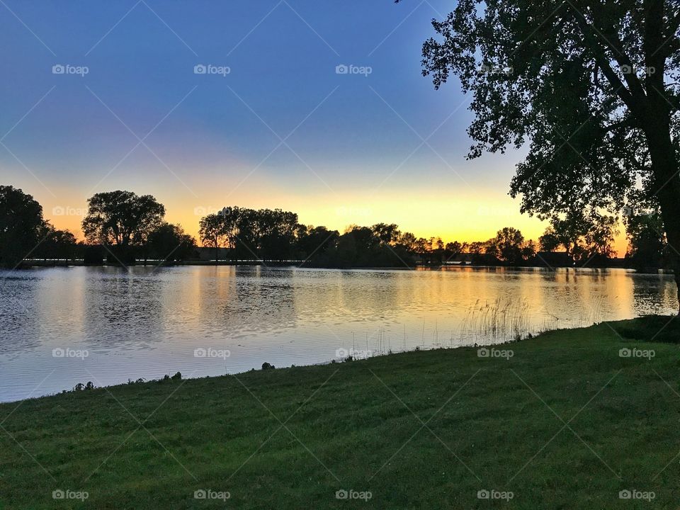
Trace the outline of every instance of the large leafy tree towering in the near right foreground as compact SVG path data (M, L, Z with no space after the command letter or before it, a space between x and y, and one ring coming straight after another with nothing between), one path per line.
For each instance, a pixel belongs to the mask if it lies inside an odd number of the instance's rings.
M472 91L470 157L528 146L511 195L546 219L574 196L613 212L641 188L680 297L680 4L460 0L433 26L424 74Z

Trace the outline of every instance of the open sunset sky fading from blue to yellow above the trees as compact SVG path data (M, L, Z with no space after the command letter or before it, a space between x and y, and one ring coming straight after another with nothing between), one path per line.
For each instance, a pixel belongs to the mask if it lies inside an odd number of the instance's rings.
M467 161L470 96L421 75L450 0L1 4L0 181L57 228L81 237L115 189L191 234L227 205L445 241L545 228L507 194L523 152Z

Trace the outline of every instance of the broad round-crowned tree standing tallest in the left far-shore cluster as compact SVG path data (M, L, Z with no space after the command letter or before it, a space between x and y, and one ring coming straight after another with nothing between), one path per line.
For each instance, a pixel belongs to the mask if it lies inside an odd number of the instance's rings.
M164 206L154 197L137 196L132 191L96 193L87 203L82 222L87 241L115 247L116 258L126 261L134 261L130 247L144 244L165 216Z

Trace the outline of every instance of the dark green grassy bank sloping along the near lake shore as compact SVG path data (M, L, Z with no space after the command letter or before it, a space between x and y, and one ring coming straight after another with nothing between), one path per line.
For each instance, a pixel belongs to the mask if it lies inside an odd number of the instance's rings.
M0 508L676 508L680 348L647 341L669 319L2 404Z

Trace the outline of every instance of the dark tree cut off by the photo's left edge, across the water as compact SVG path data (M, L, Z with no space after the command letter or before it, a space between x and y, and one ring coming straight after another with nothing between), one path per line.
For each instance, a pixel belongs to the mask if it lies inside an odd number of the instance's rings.
M16 267L46 233L42 206L21 189L0 186L0 266Z

